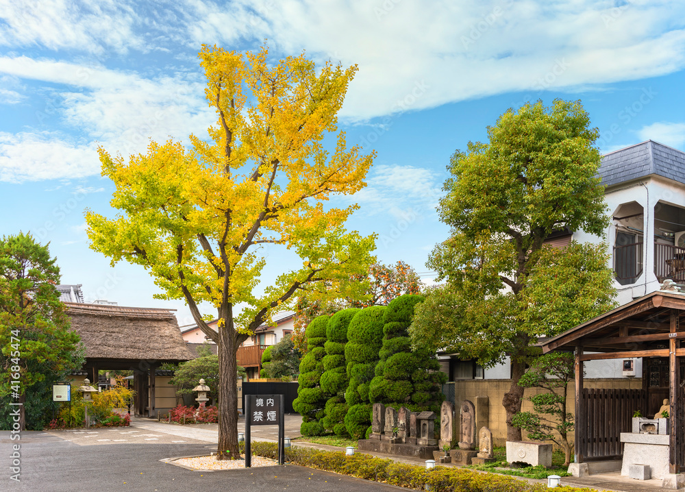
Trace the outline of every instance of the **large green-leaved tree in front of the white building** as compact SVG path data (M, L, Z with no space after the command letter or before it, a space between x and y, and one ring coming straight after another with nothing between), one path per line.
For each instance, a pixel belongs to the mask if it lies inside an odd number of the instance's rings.
M564 228L604 235L597 136L580 101L527 104L502 114L488 143L469 143L447 167L438 212L451 236L427 262L447 283L416 306L412 343L486 367L510 357L509 441L521 440L511 419L531 344L613 306L606 245L543 247Z

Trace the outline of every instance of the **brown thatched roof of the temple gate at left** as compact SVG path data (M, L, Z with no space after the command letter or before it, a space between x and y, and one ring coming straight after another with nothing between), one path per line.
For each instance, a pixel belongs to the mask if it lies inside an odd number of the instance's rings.
M71 329L86 347L86 358L159 362L193 358L169 309L64 304Z

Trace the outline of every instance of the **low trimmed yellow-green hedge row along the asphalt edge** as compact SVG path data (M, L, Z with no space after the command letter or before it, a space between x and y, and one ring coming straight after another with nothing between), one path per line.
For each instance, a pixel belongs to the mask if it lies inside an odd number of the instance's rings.
M276 443L252 443L252 453L265 458L277 458ZM333 471L365 480L376 480L408 489L432 492L545 492L546 484L531 484L516 478L481 473L456 467L435 467L394 463L393 460L356 453L345 456L340 451L321 451L308 447L289 447L286 461L295 465ZM591 489L558 487L559 492L590 492ZM593 491L594 492L594 491Z

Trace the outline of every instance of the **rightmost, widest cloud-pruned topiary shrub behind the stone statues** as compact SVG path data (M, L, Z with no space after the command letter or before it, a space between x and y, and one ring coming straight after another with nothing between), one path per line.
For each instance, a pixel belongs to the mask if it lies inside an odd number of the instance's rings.
M435 354L412 352L408 328L414 317L414 306L424 297L406 294L390 301L383 315L383 346L375 367L375 377L369 385L372 403L383 403L412 411L440 411L443 394L440 391L445 375ZM436 371L436 372L432 372Z

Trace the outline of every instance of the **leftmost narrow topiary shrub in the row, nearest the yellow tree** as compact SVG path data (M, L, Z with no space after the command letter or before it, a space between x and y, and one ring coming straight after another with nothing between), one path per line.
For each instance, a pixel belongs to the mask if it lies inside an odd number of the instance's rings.
M292 402L292 408L302 415L300 433L303 436L320 436L324 432L319 420L324 415L327 402L327 396L321 389L327 324L328 316L319 316L309 323L306 330L308 352L300 362L297 398Z

